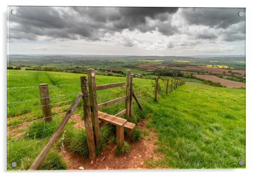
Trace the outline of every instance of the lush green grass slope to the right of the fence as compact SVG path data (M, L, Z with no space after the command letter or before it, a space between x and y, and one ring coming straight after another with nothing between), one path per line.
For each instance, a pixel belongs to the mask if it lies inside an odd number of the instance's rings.
M245 90L182 85L146 106L165 154L152 168L245 168Z

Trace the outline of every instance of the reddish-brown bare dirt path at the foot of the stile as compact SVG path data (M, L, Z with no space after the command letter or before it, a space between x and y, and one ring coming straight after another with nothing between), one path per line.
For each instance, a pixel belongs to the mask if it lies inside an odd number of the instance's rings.
M75 127L83 127L83 121L78 119L80 115L72 115L71 120L76 120ZM80 118L81 119L81 118ZM115 145L109 145L102 150L102 153L97 156L97 161L91 164L90 161L82 159L77 154L71 154L70 152L63 153L63 159L67 162L68 170L77 170L79 167L83 167L86 170L100 169L100 170L111 170L111 169L148 169L145 165L145 160L153 159L154 161L164 157L161 153L155 153L154 148L157 146L154 143L157 141L156 133L145 127L148 119L142 119L137 126L143 131L148 131L146 135L143 135L143 139L138 142L128 142L130 145L130 151L128 154L123 154L117 157L114 152ZM82 123L82 124L81 124ZM78 125L77 125L78 124ZM156 168L155 168L156 169Z

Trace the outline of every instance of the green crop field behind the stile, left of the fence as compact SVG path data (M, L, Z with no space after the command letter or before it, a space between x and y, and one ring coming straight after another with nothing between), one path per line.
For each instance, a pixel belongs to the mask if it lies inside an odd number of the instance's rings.
M63 85L63 86L49 86L49 96L52 106L60 106L63 104L71 104L77 93L80 91L80 77L87 76L86 74L73 74L51 71L26 71L26 70L8 70L7 74L7 88L38 86L40 83L48 83L48 85ZM111 77L111 76L96 76L97 85L108 84L114 82L125 82L125 77ZM151 80L134 78L134 84L143 87L148 85ZM75 84L75 85L68 85ZM118 88L98 91L98 103L108 101L110 99L120 96ZM122 88L124 93L124 88ZM39 89L36 88L18 88L7 90L7 110L8 116L28 113L40 113L40 97ZM34 100L33 100L34 99ZM32 100L32 101L28 101ZM23 102L28 101L28 102ZM39 107L39 108L38 108Z

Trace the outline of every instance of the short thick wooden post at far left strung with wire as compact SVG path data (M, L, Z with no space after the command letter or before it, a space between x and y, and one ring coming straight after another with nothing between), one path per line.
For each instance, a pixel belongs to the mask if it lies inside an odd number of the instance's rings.
M39 84L39 93L44 121L51 121L51 105L48 84Z

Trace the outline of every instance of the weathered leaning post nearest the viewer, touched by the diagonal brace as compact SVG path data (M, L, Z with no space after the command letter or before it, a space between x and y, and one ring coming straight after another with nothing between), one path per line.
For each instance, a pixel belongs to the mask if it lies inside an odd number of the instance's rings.
M85 121L85 132L86 132L86 140L89 151L89 159L95 161L96 153L95 153L95 143L94 143L94 134L93 127L91 123L91 107L89 103L89 94L87 90L87 78L80 77L81 82L81 90L84 94L82 102L83 102L83 115Z

